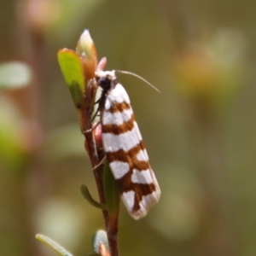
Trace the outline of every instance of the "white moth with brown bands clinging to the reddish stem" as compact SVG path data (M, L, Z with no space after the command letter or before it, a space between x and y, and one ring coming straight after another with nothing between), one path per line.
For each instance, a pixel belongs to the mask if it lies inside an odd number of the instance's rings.
M115 71L96 71L102 143L122 200L132 218L143 218L160 199L160 187L148 162L129 96Z

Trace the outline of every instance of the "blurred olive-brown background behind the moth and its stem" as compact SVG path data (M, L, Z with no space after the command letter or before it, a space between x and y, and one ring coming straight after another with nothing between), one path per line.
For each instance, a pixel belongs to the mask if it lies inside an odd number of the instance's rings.
M56 58L84 28L107 69L161 91L119 75L162 190L142 220L121 205L120 253L255 255L255 9L253 0L1 0L1 64L22 61L31 76L0 90L0 255L55 255L38 233L85 255L103 228L79 192L84 183L97 198Z

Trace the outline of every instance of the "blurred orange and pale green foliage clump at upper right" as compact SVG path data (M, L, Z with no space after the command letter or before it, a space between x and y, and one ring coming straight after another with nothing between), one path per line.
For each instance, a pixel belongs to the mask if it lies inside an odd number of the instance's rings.
M184 95L207 99L223 111L246 79L246 42L241 33L218 31L177 54L173 76Z

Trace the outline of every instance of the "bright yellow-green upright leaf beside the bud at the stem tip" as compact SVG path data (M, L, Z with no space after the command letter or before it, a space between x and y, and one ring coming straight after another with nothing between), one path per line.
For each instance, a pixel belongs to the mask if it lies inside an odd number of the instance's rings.
M73 49L60 49L58 61L76 108L84 99L84 69L79 55Z

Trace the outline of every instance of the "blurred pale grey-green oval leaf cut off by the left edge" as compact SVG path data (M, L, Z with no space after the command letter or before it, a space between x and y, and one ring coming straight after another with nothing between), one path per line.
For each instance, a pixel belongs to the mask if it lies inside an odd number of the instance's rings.
M0 65L0 89L19 89L32 79L31 68L23 62L11 61Z

